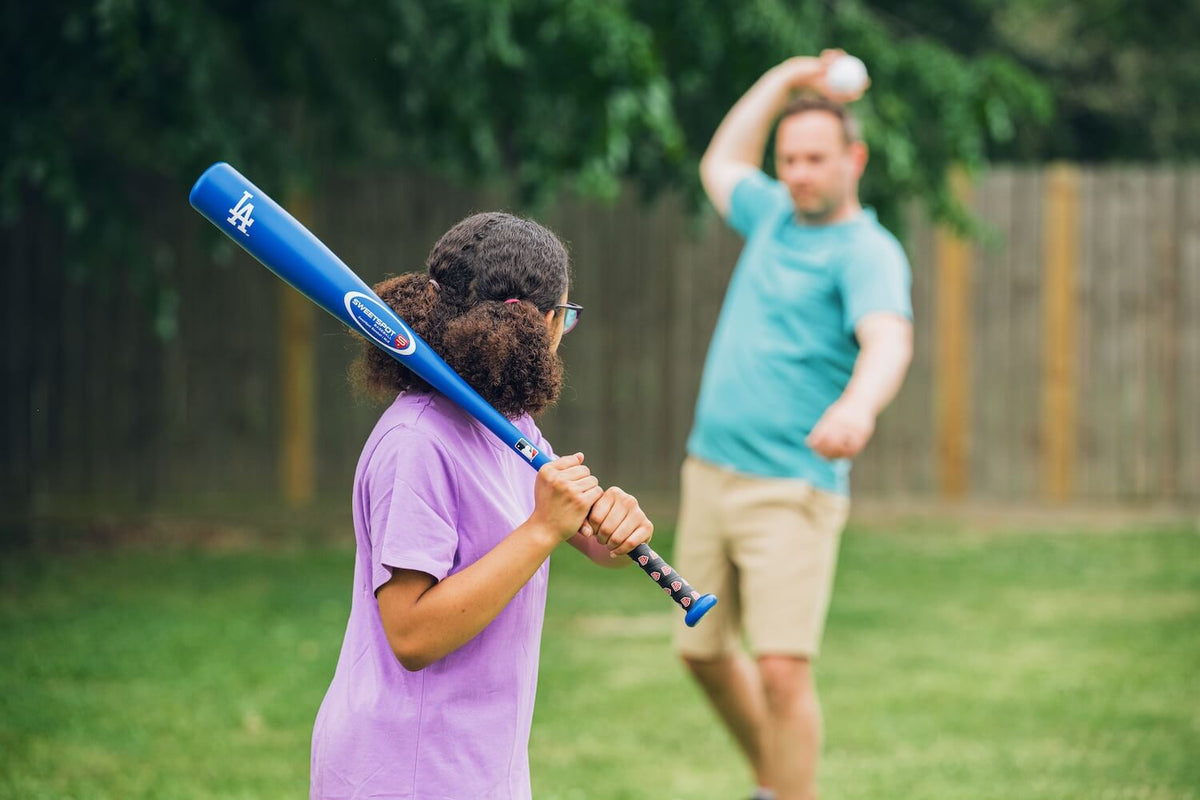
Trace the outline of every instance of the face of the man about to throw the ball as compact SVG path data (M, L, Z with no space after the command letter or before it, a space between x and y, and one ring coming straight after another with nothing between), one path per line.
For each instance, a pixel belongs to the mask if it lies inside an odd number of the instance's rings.
M775 173L792 196L796 213L821 223L858 192L866 149L846 144L841 121L823 110L793 114L775 132Z

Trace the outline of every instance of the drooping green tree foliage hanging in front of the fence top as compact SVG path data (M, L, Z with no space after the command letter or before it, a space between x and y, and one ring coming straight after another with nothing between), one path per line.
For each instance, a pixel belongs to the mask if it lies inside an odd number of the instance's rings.
M995 29L983 0L955 7L962 30ZM420 166L511 180L533 201L612 198L625 181L696 197L698 156L737 97L836 46L872 74L866 200L944 215L949 164L1016 146L1051 109L1003 37L964 48L856 0L64 0L8 4L4 23L18 79L0 101L0 222L49 207L79 270L120 264L164 332L175 245L131 209L146 181L186 187L214 161L269 186Z

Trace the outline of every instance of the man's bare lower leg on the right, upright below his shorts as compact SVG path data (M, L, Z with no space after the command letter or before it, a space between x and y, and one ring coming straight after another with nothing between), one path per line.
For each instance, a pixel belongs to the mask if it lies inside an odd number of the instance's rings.
M821 705L812 667L796 656L758 657L767 718L766 760L778 800L816 800Z

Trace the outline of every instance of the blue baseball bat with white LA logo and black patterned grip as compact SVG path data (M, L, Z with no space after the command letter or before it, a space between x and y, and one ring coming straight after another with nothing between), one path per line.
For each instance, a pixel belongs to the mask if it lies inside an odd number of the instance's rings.
M550 458L479 396L402 319L307 228L227 163L216 163L192 186L192 206L300 294L366 336L394 359L484 423L535 470ZM647 545L634 559L695 625L716 603L701 595Z

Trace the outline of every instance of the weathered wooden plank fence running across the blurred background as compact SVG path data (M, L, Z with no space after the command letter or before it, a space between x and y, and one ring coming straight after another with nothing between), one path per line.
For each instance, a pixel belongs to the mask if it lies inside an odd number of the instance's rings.
M912 215L916 357L856 492L1200 501L1200 169L997 168L960 184L994 241ZM347 385L355 343L185 197L164 191L148 221L175 243L161 254L179 294L169 339L121 276L76 277L44 221L2 231L6 509L348 492L378 413ZM312 199L304 216L368 282L420 269L466 213L510 205L424 176ZM569 242L587 308L542 427L605 480L670 497L740 241L672 196L569 199L541 218Z

